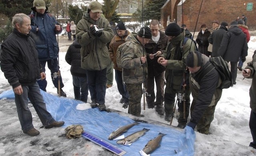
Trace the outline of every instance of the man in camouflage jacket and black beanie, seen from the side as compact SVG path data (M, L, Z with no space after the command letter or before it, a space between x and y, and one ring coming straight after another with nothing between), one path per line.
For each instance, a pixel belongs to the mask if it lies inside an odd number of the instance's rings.
M117 49L117 53L121 55L120 58L117 57L117 62L120 62L119 67L122 67L122 77L129 93L128 113L135 116L140 116L142 83L146 82L148 76L144 45L151 37L150 28L142 27L138 34L129 34L125 39L126 42Z

